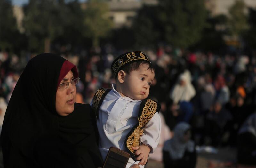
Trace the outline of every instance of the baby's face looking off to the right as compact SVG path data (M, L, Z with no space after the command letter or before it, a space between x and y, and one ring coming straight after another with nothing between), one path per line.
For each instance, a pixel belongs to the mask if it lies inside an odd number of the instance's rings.
M143 100L148 97L149 87L155 77L154 71L148 69L148 64L140 64L137 70L126 74L123 94L133 100Z

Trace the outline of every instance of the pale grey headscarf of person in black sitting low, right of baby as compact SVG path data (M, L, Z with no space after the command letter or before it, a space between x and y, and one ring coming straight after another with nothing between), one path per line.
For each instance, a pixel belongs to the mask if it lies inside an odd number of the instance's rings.
M174 128L174 137L164 143L164 151L169 152L172 159L181 159L185 151L193 152L195 143L192 140L184 143L184 134L190 129L190 125L180 122Z

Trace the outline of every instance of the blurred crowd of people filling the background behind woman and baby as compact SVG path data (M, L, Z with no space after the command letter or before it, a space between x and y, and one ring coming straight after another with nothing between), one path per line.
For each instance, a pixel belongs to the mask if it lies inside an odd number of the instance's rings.
M108 46L79 54L62 54L78 67L81 82L77 84L77 102L90 103L98 88L110 88L115 81L110 65L124 52ZM239 130L256 105L256 57L189 52L170 46L142 52L156 69L149 96L162 106L159 153L164 142L175 137L178 123L189 124L189 133L186 130L184 133L189 134L194 146L237 148L240 145L237 144ZM0 52L0 125L15 84L33 56ZM185 149L179 150L184 154ZM162 153L151 158L163 160Z

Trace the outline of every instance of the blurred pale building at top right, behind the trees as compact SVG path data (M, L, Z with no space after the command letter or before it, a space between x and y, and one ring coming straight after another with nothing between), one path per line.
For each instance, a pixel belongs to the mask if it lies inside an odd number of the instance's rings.
M243 0L248 8L256 8L256 0ZM219 14L228 15L229 8L236 0L205 0L206 9L211 11L212 16ZM247 12L247 11L246 11Z

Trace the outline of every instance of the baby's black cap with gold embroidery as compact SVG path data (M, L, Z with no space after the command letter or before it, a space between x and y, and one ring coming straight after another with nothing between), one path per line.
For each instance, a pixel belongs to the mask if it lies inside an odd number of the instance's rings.
M134 52L126 52L122 55L119 55L111 64L111 70L114 76L116 76L116 73L118 70L129 63L136 62L136 61L148 61L150 64L150 60L141 51L134 51Z

